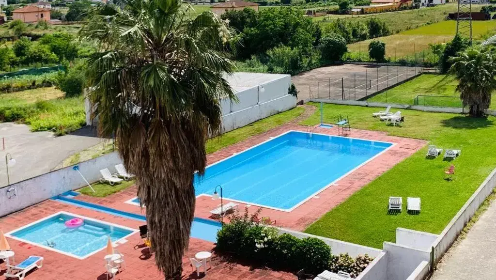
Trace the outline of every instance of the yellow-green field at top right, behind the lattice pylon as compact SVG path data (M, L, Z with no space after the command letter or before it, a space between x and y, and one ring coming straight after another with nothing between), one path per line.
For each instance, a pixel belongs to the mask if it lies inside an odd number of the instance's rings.
M496 33L496 22L473 21L472 36L474 40L487 34ZM417 53L417 61L422 60L422 51L429 49L429 44L451 41L456 33L456 21L445 20L398 34L380 37L378 40L386 43L386 57L391 59L410 56ZM360 52L362 57L368 57L368 47L372 40L366 40L348 45L350 52Z

